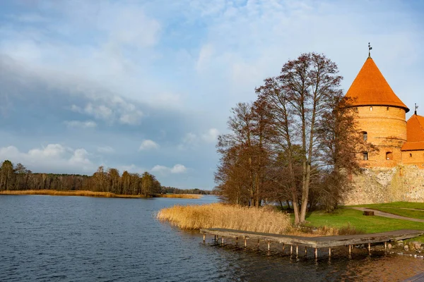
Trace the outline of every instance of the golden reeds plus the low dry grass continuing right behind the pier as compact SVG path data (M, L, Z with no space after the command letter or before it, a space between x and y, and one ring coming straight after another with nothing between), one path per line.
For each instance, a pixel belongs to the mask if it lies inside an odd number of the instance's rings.
M230 204L175 205L161 209L157 218L182 229L228 228L241 231L317 237L364 233L348 224L342 228L329 226L293 226L290 215L273 206L260 209Z

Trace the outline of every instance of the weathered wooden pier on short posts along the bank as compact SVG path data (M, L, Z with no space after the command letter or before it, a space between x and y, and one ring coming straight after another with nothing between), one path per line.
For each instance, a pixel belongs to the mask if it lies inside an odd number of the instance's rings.
M368 252L370 252L372 243L384 243L384 247L387 247L387 242L415 238L419 235L423 235L424 231L403 229L383 233L321 237L280 235L225 228L200 229L200 233L204 234L204 242L206 240L206 234L211 234L215 235L216 241L218 241L218 237L221 237L221 243L224 243L224 238L236 238L236 240L238 240L238 238L243 238L245 246L247 246L248 239L258 240L258 244L260 240L264 240L268 242L268 249L271 242L282 243L283 246L290 245L290 254L293 253L293 246L295 246L296 255L298 255L298 247L305 247L305 252L307 247L311 247L314 249L315 257L317 258L318 248L329 248L329 256L331 256L331 247L347 245L349 247L349 255L351 255L353 245L367 244Z

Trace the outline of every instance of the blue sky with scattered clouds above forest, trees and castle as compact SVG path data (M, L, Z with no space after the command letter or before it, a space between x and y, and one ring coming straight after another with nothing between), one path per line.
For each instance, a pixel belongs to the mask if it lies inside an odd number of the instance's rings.
M302 53L337 63L346 92L370 42L407 118L424 115L423 16L421 1L0 1L0 161L211 190L231 108Z

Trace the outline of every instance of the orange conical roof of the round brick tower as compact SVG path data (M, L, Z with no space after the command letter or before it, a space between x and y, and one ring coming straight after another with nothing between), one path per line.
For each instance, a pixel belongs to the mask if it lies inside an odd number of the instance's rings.
M409 111L408 107L394 94L389 83L379 71L371 57L363 67L346 93L352 106L397 106Z

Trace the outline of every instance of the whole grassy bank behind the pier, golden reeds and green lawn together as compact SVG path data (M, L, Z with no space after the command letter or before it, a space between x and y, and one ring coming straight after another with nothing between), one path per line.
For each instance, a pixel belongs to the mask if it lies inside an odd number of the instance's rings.
M419 204L414 207L419 207ZM184 229L230 228L305 236L379 233L399 229L424 230L424 223L363 216L363 212L355 209L338 209L331 214L309 213L305 224L307 228L294 228L293 215L276 212L275 209L254 209L228 204L177 205L160 210L158 219Z

